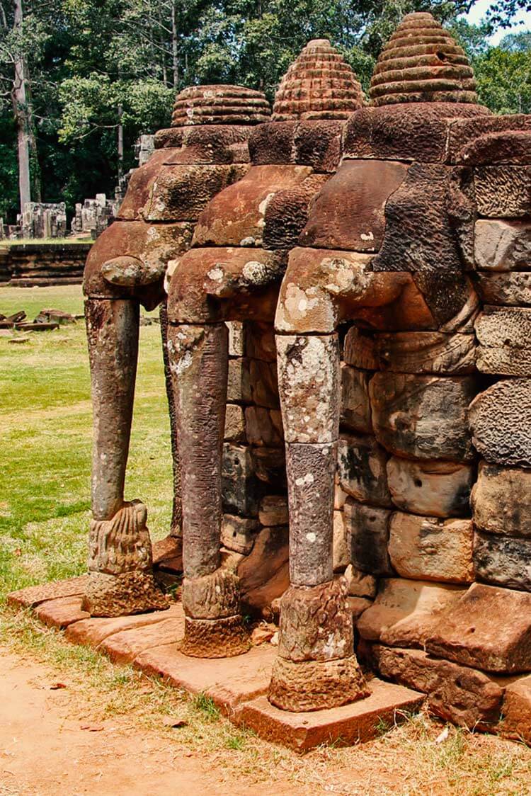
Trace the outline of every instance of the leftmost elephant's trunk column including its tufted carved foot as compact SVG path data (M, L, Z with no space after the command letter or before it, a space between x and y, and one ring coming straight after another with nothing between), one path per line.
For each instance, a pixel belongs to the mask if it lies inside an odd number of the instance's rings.
M125 502L125 481L139 349L139 305L123 299L85 303L92 379L92 521L83 607L121 616L168 607L152 574L146 507Z

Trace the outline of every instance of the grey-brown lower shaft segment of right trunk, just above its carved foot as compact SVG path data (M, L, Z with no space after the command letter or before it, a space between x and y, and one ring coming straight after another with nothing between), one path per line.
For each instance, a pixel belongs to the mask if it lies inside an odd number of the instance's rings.
M294 585L314 586L332 579L335 443L287 443L290 573Z

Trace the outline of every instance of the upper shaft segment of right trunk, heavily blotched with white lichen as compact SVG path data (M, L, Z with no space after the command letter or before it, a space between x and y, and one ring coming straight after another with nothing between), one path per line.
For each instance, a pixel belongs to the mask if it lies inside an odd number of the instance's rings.
M338 435L337 335L278 334L279 389L287 443L332 443ZM303 411L301 411L303 410Z

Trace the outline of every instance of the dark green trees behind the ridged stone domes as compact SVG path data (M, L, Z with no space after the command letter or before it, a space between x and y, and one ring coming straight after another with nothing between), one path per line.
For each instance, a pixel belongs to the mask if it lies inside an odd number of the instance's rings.
M111 193L133 165L135 139L170 123L185 85L244 84L271 100L306 41L327 37L366 89L381 46L416 10L431 11L467 49L483 103L531 112L531 34L486 43L529 0L500 0L477 26L463 21L473 2L0 0L0 216L14 220L18 210L21 127L33 197L40 189L43 201L72 211Z

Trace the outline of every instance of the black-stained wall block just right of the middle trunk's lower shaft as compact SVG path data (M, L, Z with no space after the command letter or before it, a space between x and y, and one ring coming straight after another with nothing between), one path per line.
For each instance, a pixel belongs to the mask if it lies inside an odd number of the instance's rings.
M225 513L243 517L258 515L264 485L256 476L249 447L225 443L221 494Z

